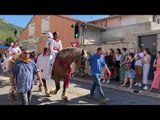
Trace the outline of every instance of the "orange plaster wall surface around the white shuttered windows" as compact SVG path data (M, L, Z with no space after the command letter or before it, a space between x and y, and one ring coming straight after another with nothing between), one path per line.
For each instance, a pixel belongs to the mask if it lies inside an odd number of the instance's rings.
M40 42L35 44L37 45L38 52L43 52L43 48L45 47L45 41L47 39L46 35L41 33L41 19L47 18L48 15L35 15L29 24L35 23L35 36L39 37ZM50 32L58 31L60 35L60 39L62 40L63 48L71 47L71 42L74 41L74 28L71 28L72 24L75 24L77 21L66 19L61 16L49 15L50 17ZM28 25L29 25L28 24ZM28 27L26 26L25 30L19 37L19 40L27 40L28 39ZM79 39L78 39L79 41ZM23 46L27 47L29 45Z

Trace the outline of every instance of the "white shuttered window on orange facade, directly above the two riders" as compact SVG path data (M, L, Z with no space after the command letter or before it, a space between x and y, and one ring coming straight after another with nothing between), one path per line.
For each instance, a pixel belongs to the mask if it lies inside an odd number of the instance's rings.
M50 31L50 20L49 17L41 20L41 32L42 34Z

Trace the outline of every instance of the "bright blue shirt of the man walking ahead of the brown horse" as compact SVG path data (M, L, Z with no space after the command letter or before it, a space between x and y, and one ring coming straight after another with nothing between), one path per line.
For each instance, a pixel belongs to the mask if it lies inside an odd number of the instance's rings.
M92 75L102 74L102 66L105 66L105 58L103 55L99 58L98 54L92 55L89 59L89 64L91 65Z

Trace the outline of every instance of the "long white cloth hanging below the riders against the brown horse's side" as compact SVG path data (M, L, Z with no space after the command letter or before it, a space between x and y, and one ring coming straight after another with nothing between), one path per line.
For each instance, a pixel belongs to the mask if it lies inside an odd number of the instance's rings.
M51 69L52 69L52 57L51 56L43 56L41 54L37 59L37 68L40 70L42 78L49 80L51 79Z

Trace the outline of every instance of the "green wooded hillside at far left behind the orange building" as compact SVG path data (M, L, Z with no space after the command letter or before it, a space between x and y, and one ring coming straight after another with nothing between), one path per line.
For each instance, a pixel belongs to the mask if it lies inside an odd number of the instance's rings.
M19 35L21 35L23 28L10 24L0 18L0 39L6 40L6 44L9 44L12 40L16 41L15 30L19 30Z

